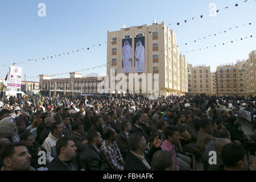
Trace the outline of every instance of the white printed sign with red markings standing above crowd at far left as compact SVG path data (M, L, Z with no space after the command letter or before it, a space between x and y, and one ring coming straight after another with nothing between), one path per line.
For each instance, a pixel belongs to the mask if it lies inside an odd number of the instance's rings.
M22 82L22 67L10 65L7 78L7 88L20 89Z

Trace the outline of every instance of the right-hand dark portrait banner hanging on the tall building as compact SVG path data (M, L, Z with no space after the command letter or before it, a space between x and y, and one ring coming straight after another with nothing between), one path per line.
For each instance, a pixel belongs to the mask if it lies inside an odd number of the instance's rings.
M145 72L145 37L134 38L134 73Z

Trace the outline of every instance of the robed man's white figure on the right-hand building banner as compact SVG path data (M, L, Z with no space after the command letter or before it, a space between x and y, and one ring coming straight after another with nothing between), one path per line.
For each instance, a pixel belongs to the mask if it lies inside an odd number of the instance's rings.
M145 71L145 49L141 43L141 40L138 40L137 46L134 52L134 72L144 72Z

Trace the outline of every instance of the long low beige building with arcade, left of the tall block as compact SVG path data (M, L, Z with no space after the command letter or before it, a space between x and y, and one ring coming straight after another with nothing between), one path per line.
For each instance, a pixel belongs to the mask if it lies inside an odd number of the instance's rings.
M48 75L39 75L40 93L47 96L79 96L81 94L97 94L98 84L102 77L97 73L82 76L81 73L69 73L69 78L51 78ZM100 80L98 80L100 77Z

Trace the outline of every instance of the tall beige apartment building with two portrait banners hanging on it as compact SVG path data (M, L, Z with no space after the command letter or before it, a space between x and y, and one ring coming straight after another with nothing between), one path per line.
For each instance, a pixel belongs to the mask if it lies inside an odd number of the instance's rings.
M135 60L135 54L137 46L140 46L139 41L143 46L144 62L139 62L143 66L138 69L136 64L139 63L135 61L139 59ZM168 96L187 92L187 60L179 53L175 32L170 30L164 22L158 24L154 20L149 26L147 24L129 28L123 26L121 30L108 31L107 63L111 93ZM122 80L115 80L113 77L119 73L123 73L125 84L117 90L113 85L120 84ZM131 84L133 77L135 80ZM135 81L139 82L139 85L135 84ZM154 81L158 81L159 85L154 85ZM151 88L159 92L152 93Z

